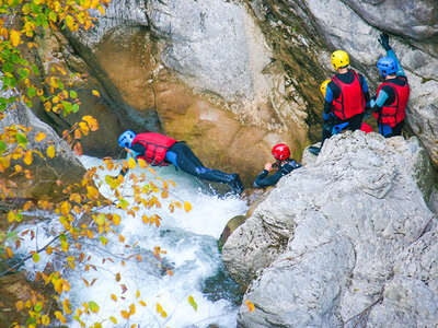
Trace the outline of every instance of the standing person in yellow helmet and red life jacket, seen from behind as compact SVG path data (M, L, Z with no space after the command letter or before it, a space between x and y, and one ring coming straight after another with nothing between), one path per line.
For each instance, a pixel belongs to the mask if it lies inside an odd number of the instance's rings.
M348 68L349 57L344 50L336 50L331 57L333 69L336 74L324 85L325 93L323 109L323 130L321 147L325 139L332 137L332 129L327 126L347 122L348 130L358 130L365 118L370 116L370 94L364 75ZM367 109L367 110L366 110ZM324 129L325 127L325 129ZM309 151L315 155L321 148L310 147Z

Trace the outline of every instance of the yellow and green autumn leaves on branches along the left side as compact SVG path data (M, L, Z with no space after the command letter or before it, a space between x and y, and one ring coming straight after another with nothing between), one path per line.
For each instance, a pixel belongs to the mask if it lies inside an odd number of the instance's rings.
M67 74L65 69L56 67L53 75L42 79L38 67L25 59L22 51L37 47L33 39L36 33L44 33L44 31L50 28L68 28L76 32L78 28L89 30L93 27L96 19L90 14L90 10L96 10L104 14L104 8L108 2L110 0L0 0L0 62L2 73L0 120L3 119L8 110L16 106L18 102L23 102L31 107L35 97L44 104L45 110L57 115L68 115L79 110L80 101L77 93L72 90L69 91L69 85L65 85L62 80L55 74ZM14 20L12 21L12 19ZM100 96L96 91L91 92L95 96ZM85 115L81 121L64 131L62 138L71 144L77 154L81 155L82 148L78 141L97 129L97 121ZM35 141L46 143L45 151L30 148L30 131L31 128L23 125L13 125L0 131L1 175L8 175L8 178L23 175L25 178L32 179L31 167L35 157L49 163L56 156L54 144L50 140L47 140L43 132L36 134ZM27 200L21 208L8 212L7 219L11 230L8 234L0 233L0 256L8 265L8 269L0 272L0 276L20 270L23 263L27 261L38 263L43 254L48 256L56 254L56 258L61 260L61 265L58 263L57 266L47 262L44 269L35 274L35 282L45 285L48 293L51 293L51 297L35 293L28 295L26 300L18 301L15 309L23 314L23 320L11 323L12 327L65 325L71 320L85 326L84 317L100 312L100 305L93 301L84 303L78 308L72 308L69 298L66 297L66 293L70 291L70 283L62 277L61 270L57 268L83 270L84 272L97 270L82 251L84 242L97 241L104 247L110 235L114 235L122 245L129 247L125 236L116 232L116 226L123 220L120 215L115 212L102 212L102 208L122 209L128 216L135 218L140 211L145 212L145 210L162 207L159 199L170 197L171 187L175 187L173 181L161 179L158 176L151 179L145 173L139 176L130 173L126 178L122 175L106 175L101 184L106 184L113 195L108 199L104 199L100 195L100 186L95 185L99 173L103 169L118 172L122 166L125 171L139 166L143 172L149 171L155 176L155 172L142 160L136 162L130 159L116 163L112 159L105 159L102 166L90 169L84 177L78 179L78 185L82 187L83 192L73 192L73 186L67 187L64 190L64 199L58 202ZM126 179L131 183L132 200L126 199L119 191L120 186L126 184ZM13 197L13 192L0 181L0 198L5 200ZM188 212L192 207L183 200L170 201L170 212L177 209ZM44 245L36 242L36 233L33 229L33 225L36 224L35 221L26 222L31 226L30 229L20 232L14 231L23 223L25 213L34 210L56 214L61 226L60 231L53 233L51 238ZM142 214L141 220L147 225L157 227L161 225L161 218L157 214ZM34 242L35 247L27 251L25 256L18 258L16 254L20 253L22 242L25 238ZM160 266L165 250L157 246L152 254L157 260L155 265ZM15 260L11 261L12 259ZM113 259L108 257L107 260ZM129 260L142 261L143 259L139 254L122 259L123 262ZM166 269L166 273L173 274L170 269ZM82 279L82 281L84 288L89 288L95 282L95 280L88 281L87 279ZM126 291L126 285L120 283L119 273L115 277L115 283L120 284L122 290ZM131 304L120 311L120 316L127 321L136 313L136 307L147 306L147 302L141 298L138 291L135 295ZM111 298L113 302L118 302L114 294ZM187 302L195 311L197 309L197 304L192 296L188 297ZM159 316L168 316L165 309L159 303L154 304L153 307ZM115 317L108 317L94 323L93 327L101 327L105 321L125 325L117 323Z

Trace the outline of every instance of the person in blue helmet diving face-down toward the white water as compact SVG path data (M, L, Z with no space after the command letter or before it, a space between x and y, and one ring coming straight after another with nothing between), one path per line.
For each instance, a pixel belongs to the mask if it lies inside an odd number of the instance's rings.
M166 166L175 165L177 168L199 179L211 183L227 184L233 194L242 194L244 187L237 173L227 174L204 166L192 150L183 142L166 136L146 132L136 134L127 130L118 138L118 145L128 149L128 159L142 159L151 165ZM119 174L125 175L126 171Z

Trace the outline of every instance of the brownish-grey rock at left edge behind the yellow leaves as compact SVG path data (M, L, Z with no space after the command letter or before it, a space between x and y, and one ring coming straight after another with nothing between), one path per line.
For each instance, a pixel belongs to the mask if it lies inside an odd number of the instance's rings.
M11 172L7 171L0 175L0 181L7 186L15 198L38 200L58 200L65 197L62 190L69 185L81 181L87 173L83 165L74 156L67 142L58 137L53 128L41 121L22 103L15 103L15 108L7 109L5 116L0 120L0 130L12 125L21 125L31 128L27 136L27 149L39 151L46 154L50 144L55 147L55 156L41 159L39 155L33 155L33 163L30 166L23 164L21 160L16 164L22 165L23 169L30 169L33 178L27 179L22 175L9 176ZM46 139L35 141L35 136L44 132ZM4 155L4 154L3 154ZM12 164L11 166L13 166Z

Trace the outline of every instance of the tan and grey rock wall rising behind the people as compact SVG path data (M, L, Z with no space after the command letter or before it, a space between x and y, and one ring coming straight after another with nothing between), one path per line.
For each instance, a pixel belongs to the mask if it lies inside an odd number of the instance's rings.
M252 183L273 144L300 156L320 138L318 89L333 74L333 50L349 54L374 93L384 55L377 37L387 31L410 80L408 128L438 167L437 11L434 0L120 0L91 33L41 37L38 55L45 72L81 73L66 83L81 115L103 127L83 139L88 154L119 155L125 129L165 132L207 166L246 167ZM60 132L77 118L44 119Z

